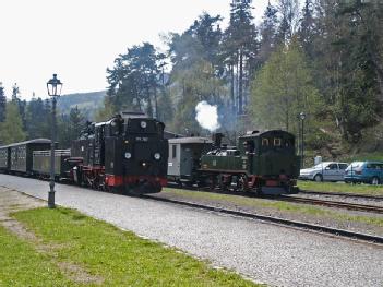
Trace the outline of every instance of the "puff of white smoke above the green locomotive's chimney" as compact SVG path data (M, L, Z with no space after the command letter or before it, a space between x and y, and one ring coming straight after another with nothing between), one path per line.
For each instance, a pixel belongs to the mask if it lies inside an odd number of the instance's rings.
M202 128L214 132L220 127L218 122L217 106L211 106L206 100L202 100L195 106L195 120Z

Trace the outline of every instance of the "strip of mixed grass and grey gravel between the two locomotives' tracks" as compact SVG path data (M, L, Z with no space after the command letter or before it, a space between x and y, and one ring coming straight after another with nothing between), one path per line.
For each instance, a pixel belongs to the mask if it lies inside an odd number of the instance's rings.
M288 220L302 222L313 225L321 225L331 228L345 229L354 232L383 237L383 226L378 223L369 223L369 220L372 219L382 220L383 214L348 211L345 208L326 207L322 205L290 203L280 201L278 200L278 198L259 199L249 198L244 195L229 195L175 189L166 189L164 192L153 194L152 196L169 200L180 200L196 204L215 206L218 208L227 208L238 212L273 216ZM267 204L272 203L285 203L289 206L300 206L303 208L295 210L267 206ZM319 213L308 212L306 211L306 207L312 207L315 211L319 211Z

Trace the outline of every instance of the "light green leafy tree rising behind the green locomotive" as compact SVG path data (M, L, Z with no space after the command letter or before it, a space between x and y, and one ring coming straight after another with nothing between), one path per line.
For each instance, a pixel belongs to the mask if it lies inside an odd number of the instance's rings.
M320 107L298 40L279 47L256 74L252 85L252 116L256 127L298 132L298 115L304 111L313 127Z

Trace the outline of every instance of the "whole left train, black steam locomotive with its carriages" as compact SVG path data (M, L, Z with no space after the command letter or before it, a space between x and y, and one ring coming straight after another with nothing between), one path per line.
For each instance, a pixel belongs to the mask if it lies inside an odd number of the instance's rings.
M164 129L163 122L132 112L89 123L71 150L55 151L56 177L99 190L159 192L167 184ZM48 177L49 145L50 140L38 139L1 146L0 170Z

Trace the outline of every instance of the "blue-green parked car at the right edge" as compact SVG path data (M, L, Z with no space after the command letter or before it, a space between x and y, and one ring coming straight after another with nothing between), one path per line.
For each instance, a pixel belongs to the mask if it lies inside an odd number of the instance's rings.
M354 162L345 174L345 182L383 183L383 162Z

